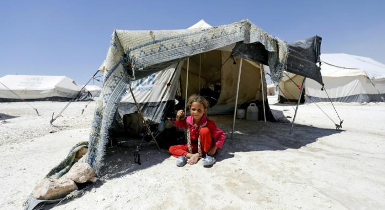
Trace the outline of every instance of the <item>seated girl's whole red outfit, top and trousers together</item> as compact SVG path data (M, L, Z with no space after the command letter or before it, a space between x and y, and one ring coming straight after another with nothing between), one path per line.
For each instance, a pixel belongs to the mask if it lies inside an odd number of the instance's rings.
M177 128L190 129L191 148L193 153L198 152L198 138L200 137L200 145L204 154L206 154L212 144L215 144L219 149L222 148L226 139L226 133L219 129L214 121L207 119L206 115L202 116L198 126L194 126L193 116L189 115L182 120L173 121ZM213 137L213 139L212 139ZM189 152L188 145L171 146L170 154L174 157L186 156Z

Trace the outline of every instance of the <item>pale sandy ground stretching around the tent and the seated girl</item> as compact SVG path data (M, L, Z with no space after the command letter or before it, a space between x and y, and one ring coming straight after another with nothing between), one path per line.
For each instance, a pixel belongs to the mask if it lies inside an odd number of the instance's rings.
M275 113L289 116L290 105ZM0 209L22 209L35 184L79 141L88 140L95 102L0 103ZM339 122L329 103L322 109ZM228 133L217 163L178 168L166 150L144 147L142 165L133 149L112 147L94 188L55 210L75 209L385 209L385 103L335 107L343 130L315 105L300 105L296 124L212 116ZM5 119L5 121L3 121Z

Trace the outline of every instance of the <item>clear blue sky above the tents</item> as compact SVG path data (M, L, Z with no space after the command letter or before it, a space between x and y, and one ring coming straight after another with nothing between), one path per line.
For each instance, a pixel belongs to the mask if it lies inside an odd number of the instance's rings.
M318 35L321 53L385 63L384 0L1 0L0 8L0 77L64 75L84 84L114 29L182 29L201 19L249 19L286 42Z

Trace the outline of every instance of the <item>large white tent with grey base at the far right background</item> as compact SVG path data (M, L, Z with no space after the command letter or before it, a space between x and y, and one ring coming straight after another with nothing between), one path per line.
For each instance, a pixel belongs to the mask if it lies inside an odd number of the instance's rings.
M349 54L322 54L321 74L332 101L371 102L385 97L385 64ZM321 85L307 79L306 103L329 101Z

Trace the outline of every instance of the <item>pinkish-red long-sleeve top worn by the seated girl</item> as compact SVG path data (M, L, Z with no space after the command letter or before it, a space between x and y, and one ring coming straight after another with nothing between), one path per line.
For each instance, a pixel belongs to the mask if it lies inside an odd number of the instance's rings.
M209 128L212 137L214 137L215 145L219 149L222 148L223 143L225 142L226 133L223 132L223 130L219 129L215 125L214 121L207 119L206 115L202 116L202 119L200 120L199 126L194 126L193 116L191 116L191 115L185 117L182 120L173 121L173 123L177 128L187 129L188 127L190 127L190 138L191 138L192 142L198 141L200 127Z

